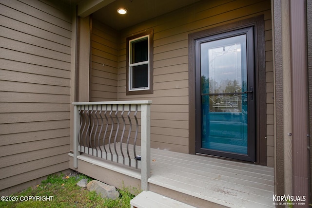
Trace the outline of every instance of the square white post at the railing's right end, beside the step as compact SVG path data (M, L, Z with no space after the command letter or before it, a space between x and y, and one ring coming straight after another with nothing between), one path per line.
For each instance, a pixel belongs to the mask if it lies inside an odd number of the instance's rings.
M141 189L148 190L151 175L151 105L141 104Z

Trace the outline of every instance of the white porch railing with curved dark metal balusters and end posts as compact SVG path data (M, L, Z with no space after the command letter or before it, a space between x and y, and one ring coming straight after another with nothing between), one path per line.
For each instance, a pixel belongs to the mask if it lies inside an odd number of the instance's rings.
M141 188L147 190L151 103L149 100L73 103L74 168L78 168L81 153L140 168ZM139 140L140 152L136 148Z

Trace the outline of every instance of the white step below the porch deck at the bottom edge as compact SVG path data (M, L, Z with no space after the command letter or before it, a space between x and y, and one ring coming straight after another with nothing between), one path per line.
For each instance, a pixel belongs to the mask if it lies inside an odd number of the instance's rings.
M142 191L130 205L131 208L195 208L152 191Z

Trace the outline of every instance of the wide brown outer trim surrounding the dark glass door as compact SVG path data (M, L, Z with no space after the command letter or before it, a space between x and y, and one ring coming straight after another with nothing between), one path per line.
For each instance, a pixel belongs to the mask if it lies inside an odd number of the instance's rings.
M195 40L207 36L218 35L246 27L254 27L254 92L255 92L255 163L267 164L266 139L266 72L265 72L265 39L264 16L243 19L233 23L216 26L189 34L189 153L196 154L196 69Z

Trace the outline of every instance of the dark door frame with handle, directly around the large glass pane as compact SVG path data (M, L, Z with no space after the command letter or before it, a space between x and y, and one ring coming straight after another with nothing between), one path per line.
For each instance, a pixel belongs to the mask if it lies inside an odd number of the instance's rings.
M247 154L240 154L228 151L216 151L212 149L205 149L202 147L202 95L201 95L201 50L200 45L211 41L216 41L225 38L231 38L238 35L246 35L246 78L247 88L245 91L253 91L248 93L248 142L247 142ZM252 43L252 44L251 44ZM254 99L256 89L254 87L254 27L245 27L242 29L233 30L226 33L221 33L213 36L207 36L204 38L195 39L195 76L196 76L196 153L220 156L225 158L232 158L244 161L255 161L255 102ZM200 83L200 84L199 84ZM252 89L253 88L253 89ZM253 98L252 98L253 97ZM215 113L213 113L215 114ZM223 114L223 113L222 113ZM198 125L200 124L200 125Z

